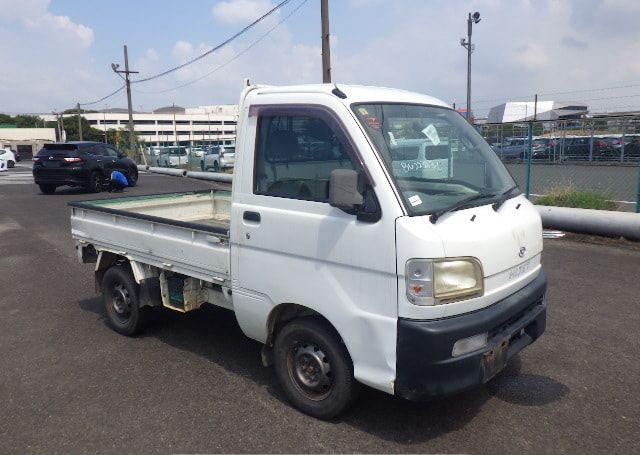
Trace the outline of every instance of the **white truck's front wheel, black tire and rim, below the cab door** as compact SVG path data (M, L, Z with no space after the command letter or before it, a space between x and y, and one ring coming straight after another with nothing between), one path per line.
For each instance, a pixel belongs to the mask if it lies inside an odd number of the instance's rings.
M276 336L274 366L289 401L318 419L331 419L356 399L353 362L336 331L319 318L289 322Z

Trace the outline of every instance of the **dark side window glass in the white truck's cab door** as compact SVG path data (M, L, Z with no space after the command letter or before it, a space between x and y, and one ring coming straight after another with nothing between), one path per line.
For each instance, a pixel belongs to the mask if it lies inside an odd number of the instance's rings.
M355 169L347 149L348 145L320 118L261 116L254 193L327 202L331 171Z

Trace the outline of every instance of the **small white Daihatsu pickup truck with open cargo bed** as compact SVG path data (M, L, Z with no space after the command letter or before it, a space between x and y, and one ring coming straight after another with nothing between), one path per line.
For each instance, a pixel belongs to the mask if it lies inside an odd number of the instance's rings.
M495 152L435 98L248 85L231 191L71 202L110 325L213 304L321 419L360 384L477 387L545 330L542 225Z

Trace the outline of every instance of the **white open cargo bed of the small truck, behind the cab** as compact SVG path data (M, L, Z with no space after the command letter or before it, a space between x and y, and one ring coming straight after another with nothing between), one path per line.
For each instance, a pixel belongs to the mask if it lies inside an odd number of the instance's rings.
M226 282L230 204L220 190L70 202L71 233L97 250Z

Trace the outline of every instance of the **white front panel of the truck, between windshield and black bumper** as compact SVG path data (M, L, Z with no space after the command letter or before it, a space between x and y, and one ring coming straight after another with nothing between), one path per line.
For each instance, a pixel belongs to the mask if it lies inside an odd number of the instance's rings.
M492 305L531 282L540 271L542 223L533 204L518 196L498 211L491 205L458 210L443 215L436 224L428 216L399 218L396 241L399 316L440 318ZM435 306L417 306L406 299L407 260L461 256L480 260L482 296Z

